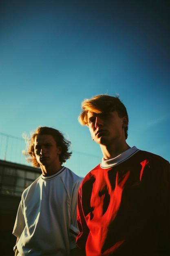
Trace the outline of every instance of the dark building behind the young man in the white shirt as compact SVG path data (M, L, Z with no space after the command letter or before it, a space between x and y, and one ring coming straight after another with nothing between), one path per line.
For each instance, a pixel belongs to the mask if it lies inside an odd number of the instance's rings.
M0 160L0 256L13 256L13 225L22 191L41 174L39 168Z

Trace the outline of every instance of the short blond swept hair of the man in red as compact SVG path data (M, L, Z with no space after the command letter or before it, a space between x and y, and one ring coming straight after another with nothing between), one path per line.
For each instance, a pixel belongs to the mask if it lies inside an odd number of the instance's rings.
M102 113L117 111L119 117L127 117L128 113L119 96L113 97L106 94L97 95L91 99L85 99L82 102L82 113L79 115L79 123L88 126L87 113ZM128 126L125 127L125 138L128 137Z

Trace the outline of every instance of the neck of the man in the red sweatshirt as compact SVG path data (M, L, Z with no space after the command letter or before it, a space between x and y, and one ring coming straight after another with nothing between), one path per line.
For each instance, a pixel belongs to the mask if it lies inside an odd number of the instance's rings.
M115 158L130 148L126 142L123 145L100 145L100 147L105 160Z

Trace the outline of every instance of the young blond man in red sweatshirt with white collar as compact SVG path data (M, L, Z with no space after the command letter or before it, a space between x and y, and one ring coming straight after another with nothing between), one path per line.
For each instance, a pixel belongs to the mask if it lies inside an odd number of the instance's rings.
M100 145L102 162L78 192L77 246L86 256L170 255L170 164L130 147L128 114L118 97L82 103L79 122Z

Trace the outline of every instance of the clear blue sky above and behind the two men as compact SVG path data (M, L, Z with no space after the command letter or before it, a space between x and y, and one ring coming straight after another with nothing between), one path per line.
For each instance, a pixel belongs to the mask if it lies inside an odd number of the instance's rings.
M129 146L170 161L169 1L0 1L0 132L61 130L66 166L84 176L102 153L78 123L81 102L115 93Z

